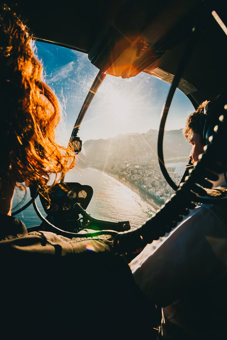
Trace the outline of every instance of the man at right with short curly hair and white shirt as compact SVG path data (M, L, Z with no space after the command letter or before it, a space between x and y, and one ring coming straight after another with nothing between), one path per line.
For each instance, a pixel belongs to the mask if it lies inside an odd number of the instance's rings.
M185 124L193 165L204 153L208 101ZM226 194L225 174L213 182ZM225 204L197 204L155 249L147 244L130 263L145 295L162 307L160 339L226 339L227 214Z

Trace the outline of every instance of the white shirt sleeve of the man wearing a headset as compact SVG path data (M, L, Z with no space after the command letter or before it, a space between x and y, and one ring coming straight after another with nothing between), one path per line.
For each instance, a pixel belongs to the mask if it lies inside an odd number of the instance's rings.
M157 249L146 245L132 260L131 271L145 295L165 307L208 278L222 275L226 249L222 222L210 208L199 206Z

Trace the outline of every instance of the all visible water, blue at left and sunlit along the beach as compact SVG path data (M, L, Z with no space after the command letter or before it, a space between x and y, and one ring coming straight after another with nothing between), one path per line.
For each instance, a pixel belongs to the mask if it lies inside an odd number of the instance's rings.
M184 173L184 165L185 163L182 162L165 164L166 167L176 167L175 172L180 174ZM96 169L71 170L66 174L65 182L79 182L92 186L94 193L86 211L97 219L113 222L129 221L131 229L134 229L144 224L156 212L155 208L149 205L142 196L108 174ZM21 205L18 206L18 203L24 194L25 192L16 191L12 212L21 207ZM28 191L23 205L29 200L30 192ZM46 217L39 198L36 199L36 202ZM27 228L41 223L32 205L17 214L16 217L21 219Z

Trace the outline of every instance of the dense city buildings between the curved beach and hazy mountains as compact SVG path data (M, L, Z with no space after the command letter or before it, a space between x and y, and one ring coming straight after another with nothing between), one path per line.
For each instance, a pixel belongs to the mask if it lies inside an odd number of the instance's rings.
M142 190L160 206L175 192L165 180L158 162L155 161L149 162L149 164L141 161L140 164L123 161L118 165L104 165L101 162L98 164L95 162L90 166L108 173L121 183L129 183L132 187ZM168 167L167 171L178 185L182 175L175 172L175 167Z

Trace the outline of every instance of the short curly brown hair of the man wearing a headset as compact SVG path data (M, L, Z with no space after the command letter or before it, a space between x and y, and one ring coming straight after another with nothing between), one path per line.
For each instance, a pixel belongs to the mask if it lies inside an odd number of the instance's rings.
M204 107L209 103L208 100L202 102L197 110L191 113L185 123L183 129L183 135L187 140L190 140L192 132L199 134L201 142L204 142L203 131L206 121L206 115L204 113Z

